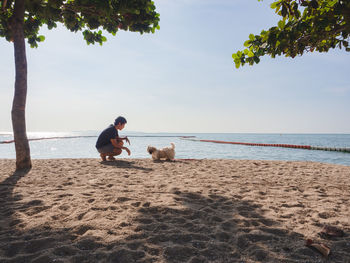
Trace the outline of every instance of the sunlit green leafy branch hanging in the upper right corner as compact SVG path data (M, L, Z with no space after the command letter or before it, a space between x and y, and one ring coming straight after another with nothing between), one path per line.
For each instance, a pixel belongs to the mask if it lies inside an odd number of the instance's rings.
M264 55L294 58L337 47L350 51L350 0L278 0L271 8L282 19L260 35L249 35L246 48L232 54L236 68L259 63Z

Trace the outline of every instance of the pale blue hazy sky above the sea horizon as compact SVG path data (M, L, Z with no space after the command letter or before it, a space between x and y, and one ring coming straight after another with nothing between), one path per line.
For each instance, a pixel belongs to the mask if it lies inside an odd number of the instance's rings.
M263 57L236 69L232 53L279 20L272 1L155 0L155 34L105 32L87 45L63 26L27 46L27 131L350 133L350 53ZM13 44L0 39L0 131L11 131Z

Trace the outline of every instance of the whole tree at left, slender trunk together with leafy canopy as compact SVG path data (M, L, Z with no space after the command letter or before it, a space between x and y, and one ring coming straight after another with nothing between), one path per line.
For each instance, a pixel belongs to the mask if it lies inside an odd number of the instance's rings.
M154 32L159 29L159 14L151 0L2 0L0 37L13 42L15 53L15 93L12 102L12 127L16 149L16 169L32 167L26 132L27 56L25 39L31 47L45 37L41 26L49 29L62 23L72 32L83 31L88 44L102 45L118 30Z

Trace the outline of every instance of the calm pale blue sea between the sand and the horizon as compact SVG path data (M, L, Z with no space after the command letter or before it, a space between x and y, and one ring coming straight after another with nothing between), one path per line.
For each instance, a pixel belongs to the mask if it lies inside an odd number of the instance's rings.
M50 158L99 158L95 143L99 132L35 132L29 138L52 138L30 141L33 159ZM75 137L82 136L82 137ZM350 165L350 153L319 150L304 150L281 147L259 147L232 144L199 142L196 140L221 140L265 144L295 144L321 147L350 148L350 134L247 134L247 133L140 133L120 132L128 136L131 156L123 152L120 158L150 158L148 145L156 147L176 145L176 158L193 159L250 159L250 160L288 160L314 161ZM195 136L195 140L182 139L181 136ZM67 138L74 137L74 138ZM0 133L0 142L12 140L11 133ZM15 158L13 143L0 143L0 158Z

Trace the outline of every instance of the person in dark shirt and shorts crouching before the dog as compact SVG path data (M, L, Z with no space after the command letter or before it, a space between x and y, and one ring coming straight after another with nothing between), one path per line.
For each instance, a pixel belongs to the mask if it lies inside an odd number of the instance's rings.
M105 130L103 130L98 136L96 142L96 149L100 153L102 161L115 160L114 156L120 155L123 150L125 150L128 155L130 155L130 150L127 147L124 147L125 140L130 145L128 137L119 137L118 130L124 129L126 124L126 119L119 116L115 119L114 125L111 124Z

